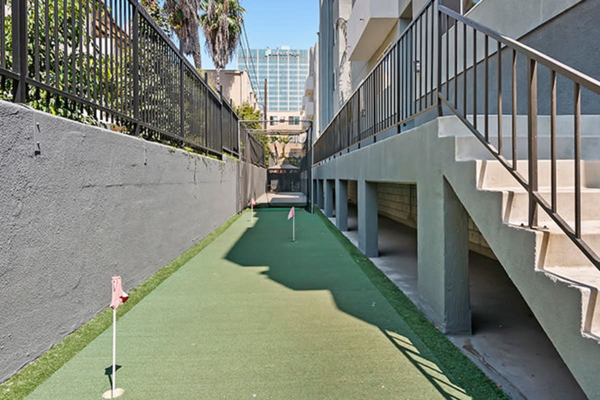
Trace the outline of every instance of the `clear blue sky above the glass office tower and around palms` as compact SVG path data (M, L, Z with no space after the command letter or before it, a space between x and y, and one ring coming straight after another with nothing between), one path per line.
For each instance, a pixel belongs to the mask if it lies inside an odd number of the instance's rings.
M244 16L248 41L253 49L290 46L292 49L310 49L317 41L319 31L319 0L241 0L246 9ZM202 68L212 70L211 56L202 43ZM227 69L236 67L235 57Z

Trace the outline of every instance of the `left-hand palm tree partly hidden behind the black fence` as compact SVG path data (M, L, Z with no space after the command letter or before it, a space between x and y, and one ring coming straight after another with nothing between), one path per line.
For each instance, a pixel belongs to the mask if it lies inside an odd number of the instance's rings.
M202 69L202 53L198 32L198 13L200 0L167 0L166 10L169 23L179 38L181 50L192 55L196 70Z

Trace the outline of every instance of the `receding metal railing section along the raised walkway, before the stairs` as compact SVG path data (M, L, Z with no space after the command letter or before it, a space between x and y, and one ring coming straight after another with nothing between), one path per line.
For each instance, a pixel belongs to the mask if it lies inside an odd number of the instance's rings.
M349 100L335 113L323 130L323 134L314 143L315 161L319 163L326 157L346 150L352 145L368 139L376 140L379 133L397 128L415 116L427 112L436 106L436 82L434 80L434 56L437 51L433 34L435 27L436 0L427 1L416 17L404 29L395 43L390 46L379 59L371 72L362 79L352 92ZM429 29L431 28L431 34ZM394 71L390 71L391 68ZM383 93L389 83L398 84L402 73L410 74L415 79L419 77L419 87L398 86L395 93ZM373 107L363 106L365 102ZM355 104L355 110L349 110L349 104ZM352 116L348 116L353 113ZM346 115L343 120L342 116ZM331 139L331 131L338 130L336 124L350 124L355 130L356 140L344 140L344 145L337 145L334 152L323 155L320 149L325 147L325 141Z

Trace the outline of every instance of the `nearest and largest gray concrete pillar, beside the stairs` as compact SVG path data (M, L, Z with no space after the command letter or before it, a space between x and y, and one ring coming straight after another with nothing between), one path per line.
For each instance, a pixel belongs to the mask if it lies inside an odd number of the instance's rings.
M469 335L469 217L446 179L417 185L418 286L443 333Z

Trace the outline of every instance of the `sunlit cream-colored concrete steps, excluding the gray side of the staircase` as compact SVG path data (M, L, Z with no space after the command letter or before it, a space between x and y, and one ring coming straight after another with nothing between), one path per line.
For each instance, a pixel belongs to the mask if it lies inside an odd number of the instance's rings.
M583 162L583 182L581 193L582 238L596 252L600 252L600 172L597 161ZM498 161L479 161L479 190L490 191L502 196L502 221L509 226L527 225L529 199L522 187L515 187L515 179ZM539 164L539 181L550 181L550 162ZM518 170L526 174L525 161L518 163ZM574 227L574 162L557 162L557 211L569 225ZM587 172L587 173L586 173ZM545 178L548 178L547 180ZM540 187L539 193L550 201L550 187ZM543 212L538 212L538 224L544 233L542 248L536 268L551 279L562 279L581 291L582 315L581 332L589 338L600 338L600 306L597 305L597 292L600 288L600 271L590 263L560 227Z

